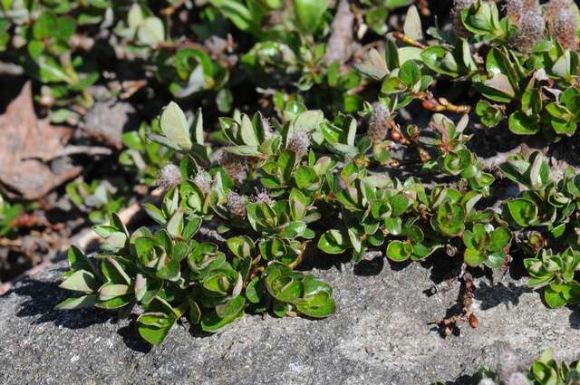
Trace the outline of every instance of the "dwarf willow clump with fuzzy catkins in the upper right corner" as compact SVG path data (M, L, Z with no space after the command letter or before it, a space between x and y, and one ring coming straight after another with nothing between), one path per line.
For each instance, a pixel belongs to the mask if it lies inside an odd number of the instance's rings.
M395 110L419 99L432 111L453 111L426 100L423 91L437 75L469 82L478 91L484 99L476 112L488 127L507 120L518 135L571 136L580 120L578 8L554 0L541 6L510 0L506 8L500 18L495 2L456 1L456 34L431 27L429 45L411 40L411 46L398 48L389 41L386 56L372 51L357 69L382 81L382 97ZM417 31L418 18L406 24L405 33Z

